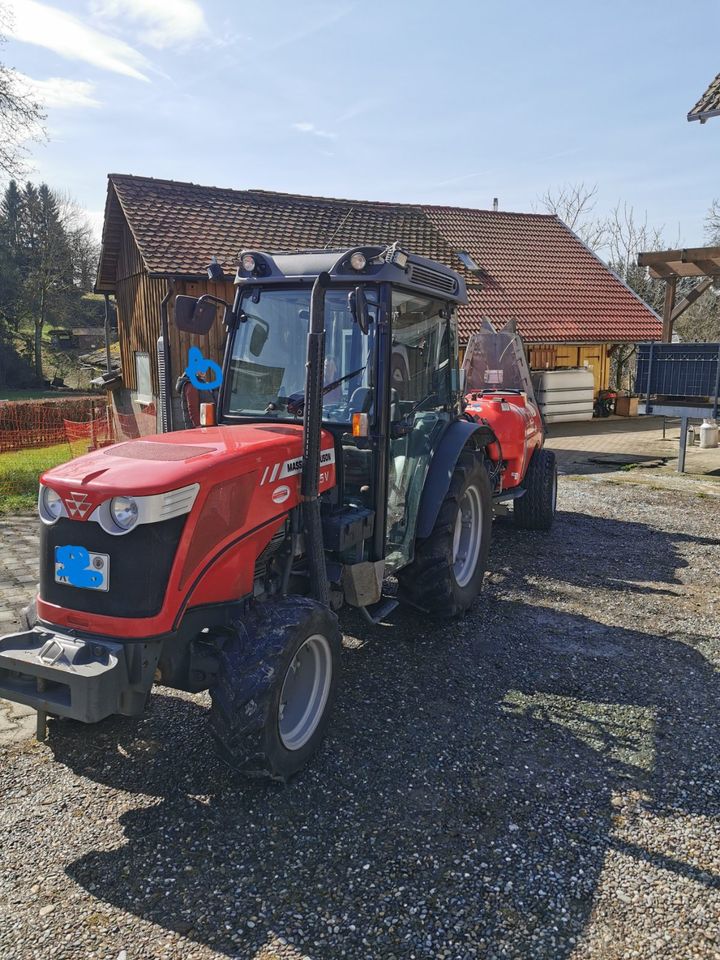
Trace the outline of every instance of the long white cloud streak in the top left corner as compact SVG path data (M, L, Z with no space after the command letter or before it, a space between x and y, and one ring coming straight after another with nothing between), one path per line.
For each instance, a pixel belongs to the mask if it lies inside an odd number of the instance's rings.
M45 47L67 60L82 60L100 70L147 80L146 58L123 40L87 27L71 13L38 0L11 0L10 34L15 40Z

